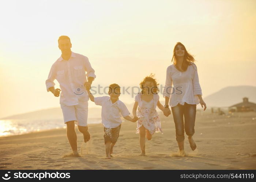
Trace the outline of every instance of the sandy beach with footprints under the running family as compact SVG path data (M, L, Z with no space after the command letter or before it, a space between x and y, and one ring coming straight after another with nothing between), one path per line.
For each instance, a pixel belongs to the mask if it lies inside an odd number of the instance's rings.
M199 107L199 105L197 106ZM185 135L185 157L178 146L172 115L161 115L163 134L146 141L139 156L136 123L123 122L113 158L106 160L101 124L89 125L91 140L83 142L78 130L81 157L68 157L71 149L65 129L0 138L0 169L256 169L256 112L233 115L197 111L192 151Z

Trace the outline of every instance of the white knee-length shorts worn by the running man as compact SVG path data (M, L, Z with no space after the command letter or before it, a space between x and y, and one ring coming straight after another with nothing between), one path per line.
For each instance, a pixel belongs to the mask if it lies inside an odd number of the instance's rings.
M64 123L75 120L76 125L87 126L88 101L79 101L78 105L75 106L60 104L60 107L62 109Z

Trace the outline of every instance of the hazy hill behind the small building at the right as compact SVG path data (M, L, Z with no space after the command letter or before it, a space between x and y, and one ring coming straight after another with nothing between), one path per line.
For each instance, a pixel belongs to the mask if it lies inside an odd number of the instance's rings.
M242 102L242 98L248 97L249 102L256 103L256 87L230 86L225 87L203 98L208 107L229 107Z

